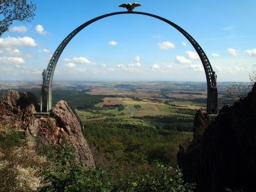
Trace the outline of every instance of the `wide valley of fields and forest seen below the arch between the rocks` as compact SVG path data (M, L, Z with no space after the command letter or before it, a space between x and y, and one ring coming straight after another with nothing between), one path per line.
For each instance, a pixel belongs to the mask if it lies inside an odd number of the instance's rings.
M36 86L19 91L41 92ZM224 88L219 93L230 100ZM75 109L97 167L154 174L156 163L177 166L179 145L186 149L192 140L194 115L205 108L206 94L205 83L61 83L53 86L53 105L66 100Z

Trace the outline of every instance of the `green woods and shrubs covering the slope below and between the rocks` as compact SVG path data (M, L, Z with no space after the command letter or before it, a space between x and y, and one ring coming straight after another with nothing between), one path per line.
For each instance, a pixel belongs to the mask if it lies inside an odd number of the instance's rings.
M0 132L0 191L194 189L176 168L178 145L192 134L115 119L85 123L84 134L96 154L96 168L87 170L65 142L49 145L21 131Z

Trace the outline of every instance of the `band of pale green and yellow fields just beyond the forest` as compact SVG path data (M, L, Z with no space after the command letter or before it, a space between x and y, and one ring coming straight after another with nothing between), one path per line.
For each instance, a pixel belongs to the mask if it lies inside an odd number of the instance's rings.
M159 116L159 115L181 115L182 117L193 117L196 109L204 104L193 102L170 102L163 104L150 100L133 100L132 98L105 97L103 101L95 104L96 109L85 112L77 111L78 115L86 121L106 119L115 117L117 119L129 119L129 117Z

